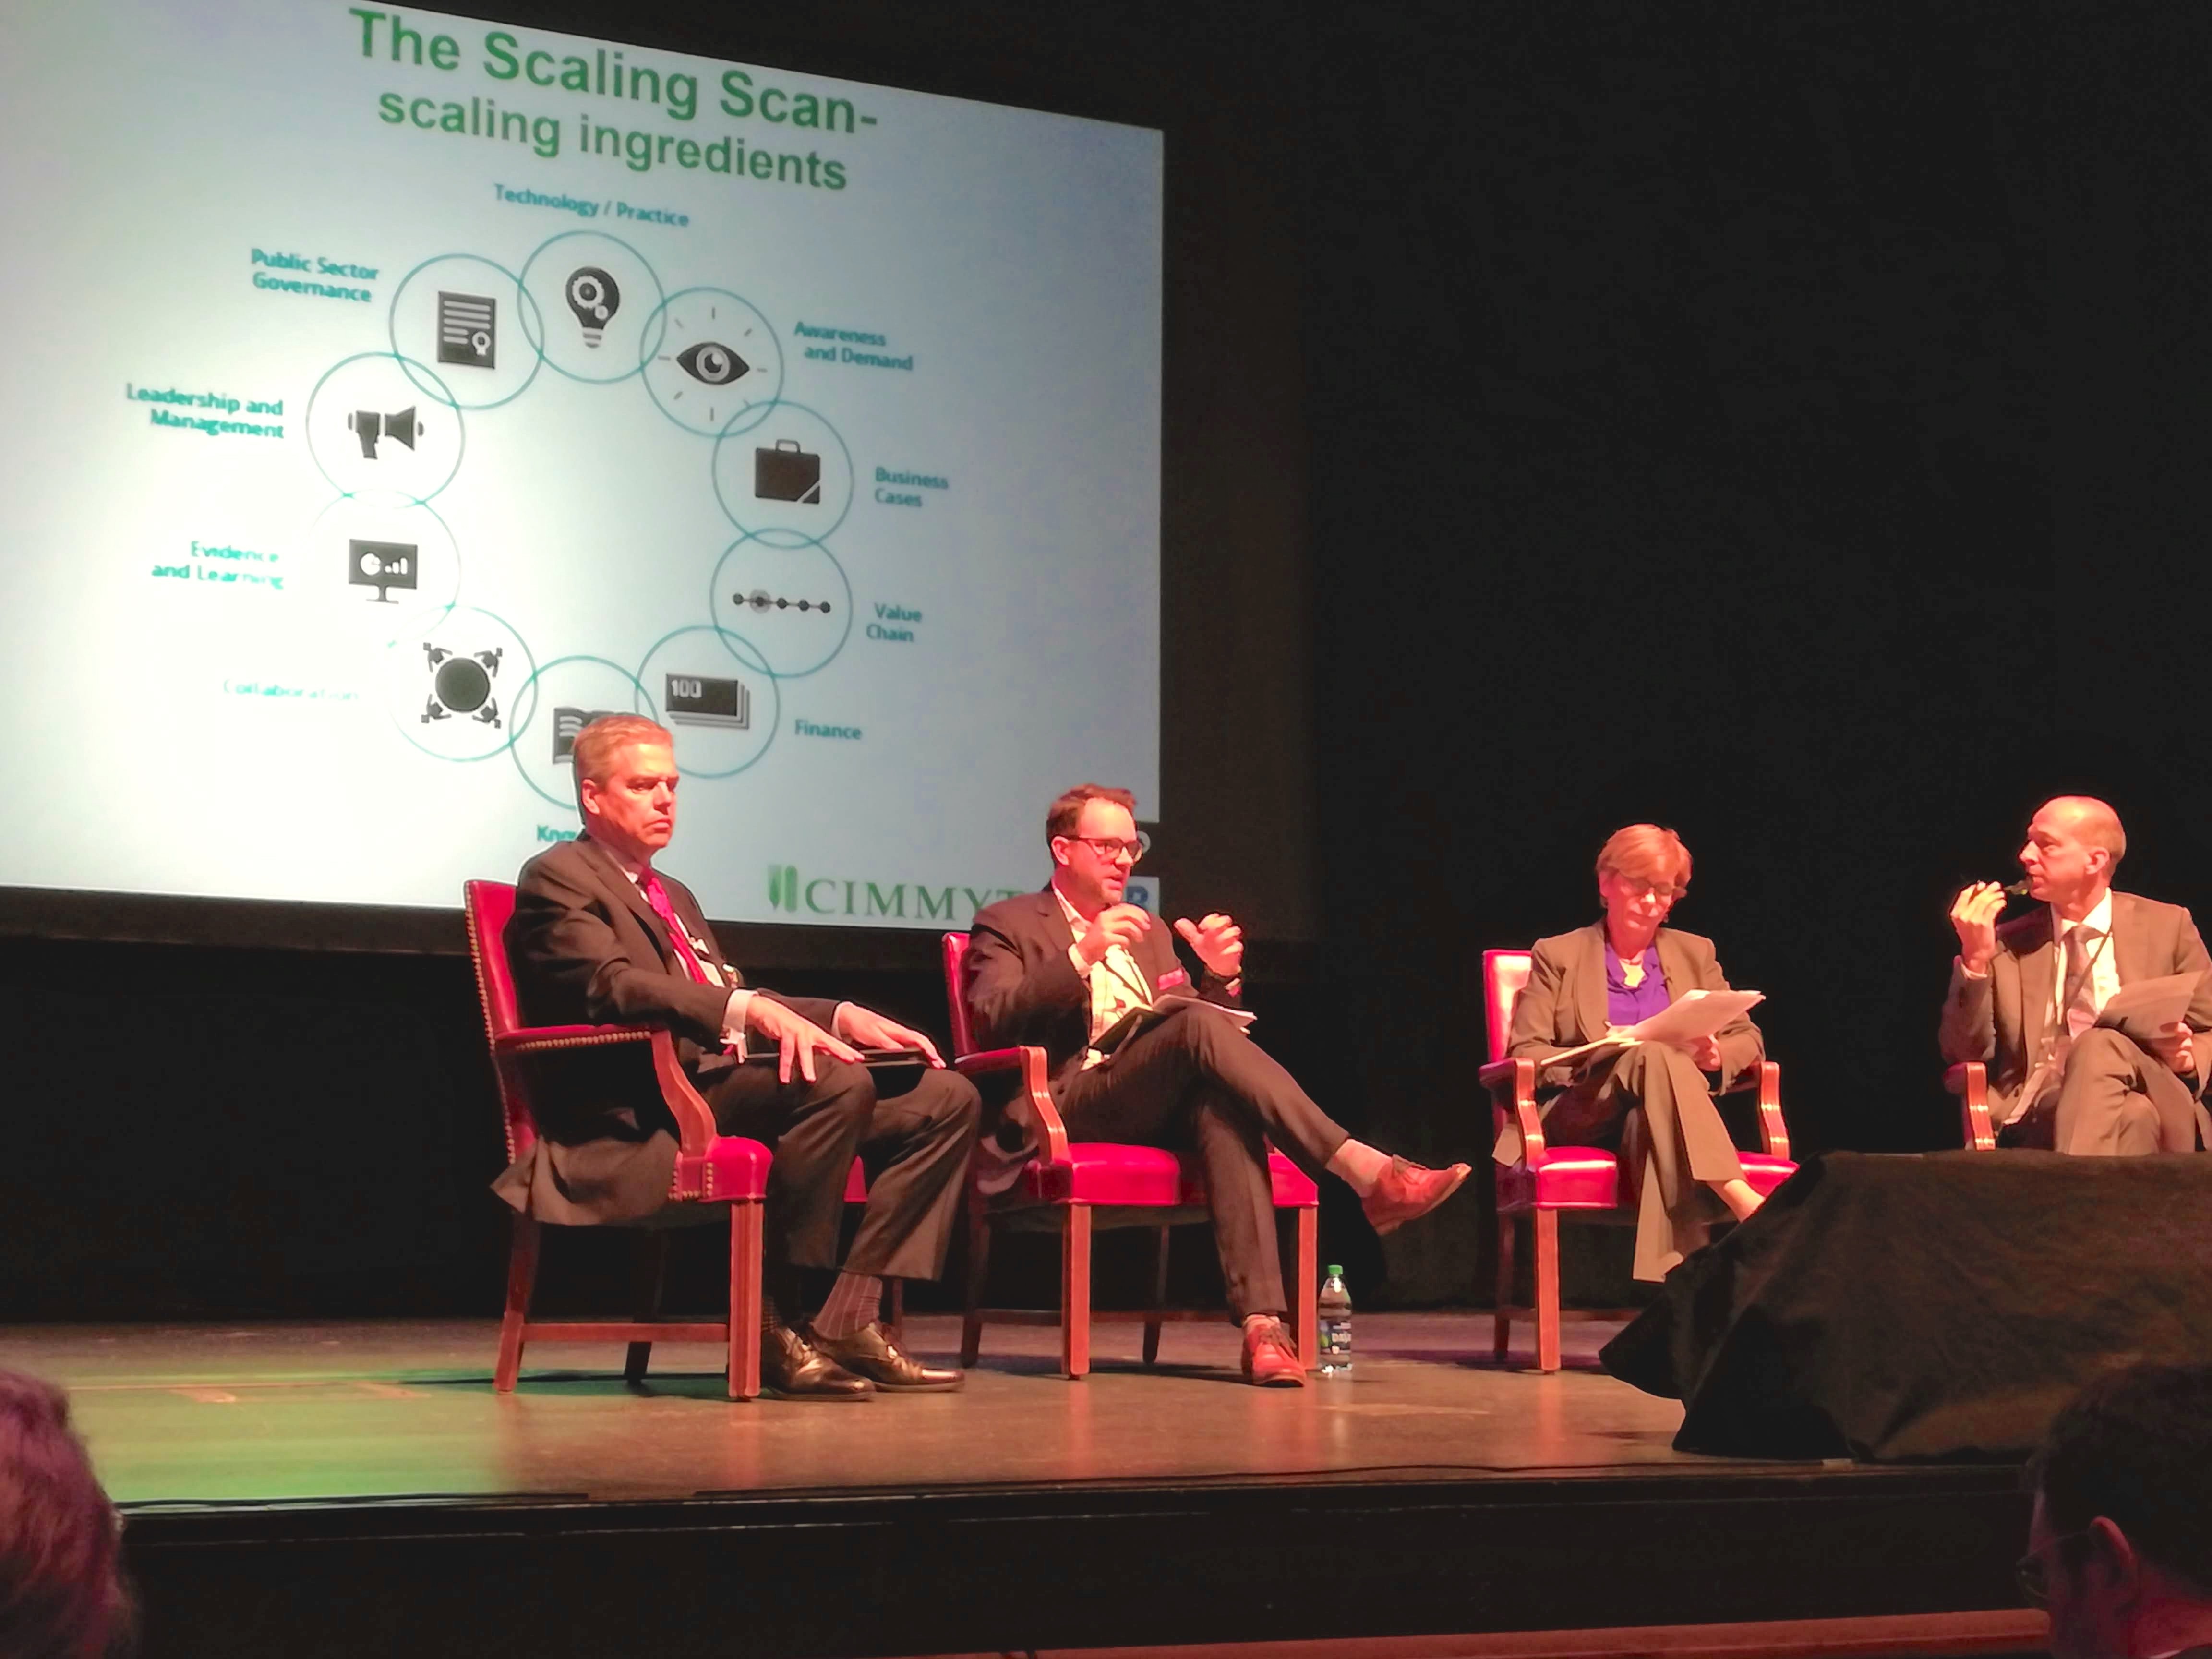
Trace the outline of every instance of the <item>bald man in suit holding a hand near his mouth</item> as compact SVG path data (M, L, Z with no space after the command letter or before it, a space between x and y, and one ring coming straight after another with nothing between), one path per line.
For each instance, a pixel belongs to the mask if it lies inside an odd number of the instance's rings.
M1991 1068L1997 1146L2132 1157L2197 1150L2212 980L2161 1031L2097 1024L2124 984L2212 973L2197 922L2179 905L2112 891L2128 852L2119 814L2090 796L2046 801L2020 867L2042 905L1997 925L2006 894L1975 883L1951 905L1958 958L1940 1042L1953 1066Z

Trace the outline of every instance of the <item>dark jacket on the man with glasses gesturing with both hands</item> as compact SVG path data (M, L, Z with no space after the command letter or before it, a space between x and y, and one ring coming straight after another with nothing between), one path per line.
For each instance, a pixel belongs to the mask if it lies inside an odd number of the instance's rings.
M1082 1071L1084 1048L1091 1046L1091 987L1068 960L1071 945L1075 933L1051 887L984 905L969 931L960 987L975 1022L975 1042L984 1048L1044 1048L1055 1095ZM1190 978L1175 953L1175 929L1166 922L1137 940L1130 956L1155 998L1188 984L1208 1002L1239 1006L1228 984L1212 973Z

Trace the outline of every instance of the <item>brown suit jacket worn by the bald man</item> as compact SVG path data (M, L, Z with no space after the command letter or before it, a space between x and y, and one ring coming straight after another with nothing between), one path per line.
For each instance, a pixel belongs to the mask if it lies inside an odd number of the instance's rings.
M2112 894L2110 949L2121 984L2212 969L2197 922L2181 905L2135 894ZM1997 953L1980 980L1969 980L1958 958L1951 958L1951 991L1936 1035L1947 1064L1989 1064L1989 1115L1997 1124L2020 1104L2020 1086L2042 1053L2057 973L2059 949L2051 938L2048 905L1997 929ZM2212 1031L2212 978L2197 987L2185 1018L2192 1031ZM2205 1057L2199 1053L2197 1077L2183 1079L2192 1093L2203 1093L2203 1073Z

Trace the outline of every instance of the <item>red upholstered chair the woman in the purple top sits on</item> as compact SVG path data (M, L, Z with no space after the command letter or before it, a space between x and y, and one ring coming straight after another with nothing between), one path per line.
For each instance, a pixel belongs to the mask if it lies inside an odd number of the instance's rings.
M1597 1146L1546 1146L1544 1119L1535 1108L1533 1060L1506 1060L1506 1040L1513 1031L1513 1002L1528 984L1528 951L1484 951L1482 953L1482 1011L1489 1020L1491 1064L1480 1073L1482 1086L1491 1091L1491 1121L1502 1130L1509 1121L1520 1126L1522 1159L1517 1164L1491 1161L1498 1192L1498 1314L1495 1354L1506 1356L1506 1340L1513 1316L1535 1318L1535 1363L1540 1371L1559 1369L1559 1217L1575 1214L1588 1221L1635 1223L1635 1183L1621 1179L1621 1161L1615 1152ZM1743 1179L1761 1197L1778 1188L1796 1172L1790 1161L1790 1128L1781 1108L1783 1068L1772 1060L1759 1066L1759 1139L1761 1152L1743 1152ZM1522 1217L1528 1217L1533 1234L1533 1307L1513 1303L1513 1234ZM1577 1310L1577 1318L1619 1318L1632 1310Z

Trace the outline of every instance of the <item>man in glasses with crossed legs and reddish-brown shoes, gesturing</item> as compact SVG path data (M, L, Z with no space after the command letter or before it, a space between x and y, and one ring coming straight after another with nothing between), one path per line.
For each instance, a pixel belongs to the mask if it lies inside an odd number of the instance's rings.
M967 1006L987 1046L1044 1048L1073 1139L1197 1152L1230 1310L1243 1325L1245 1378L1301 1385L1305 1369L1281 1318L1290 1303L1267 1144L1316 1181L1323 1172L1349 1181L1376 1232L1433 1210L1467 1166L1425 1170L1354 1141L1223 1013L1243 989L1243 931L1228 916L1175 925L1199 964L1192 984L1166 929L1121 898L1137 863L1135 807L1128 790L1097 783L1053 801L1044 821L1053 880L975 914ZM1164 1018L1113 1053L1097 1046L1152 1009Z

